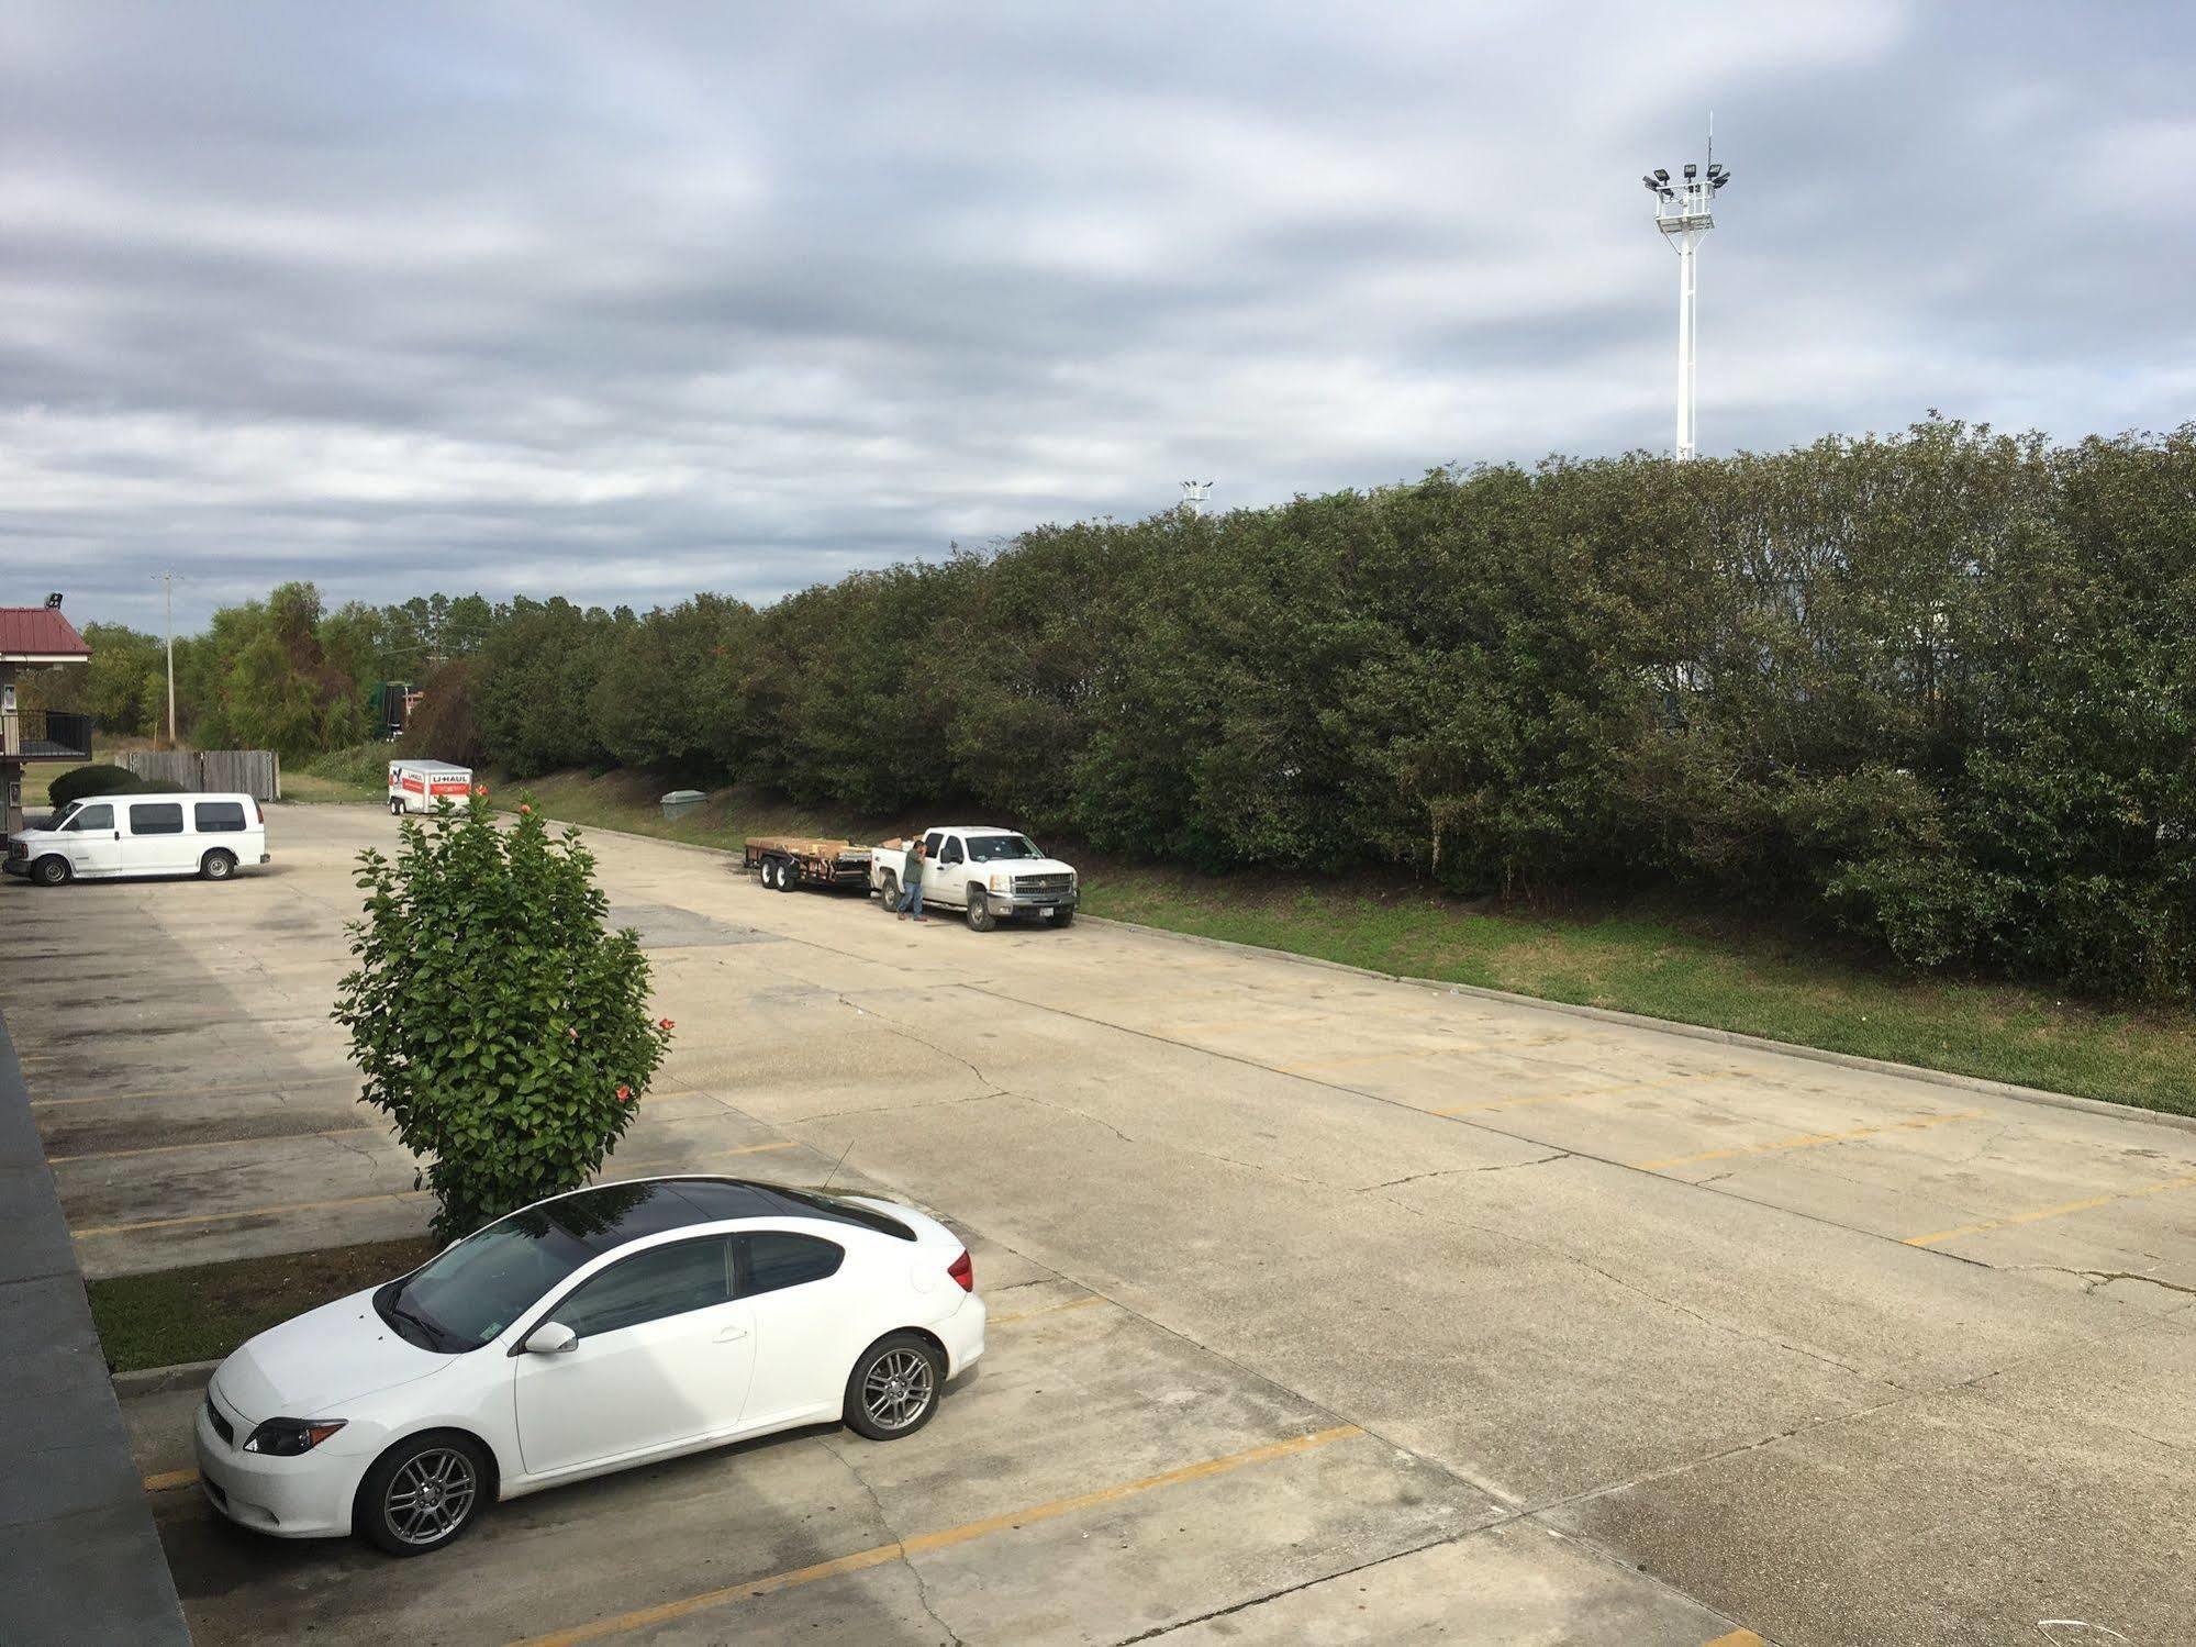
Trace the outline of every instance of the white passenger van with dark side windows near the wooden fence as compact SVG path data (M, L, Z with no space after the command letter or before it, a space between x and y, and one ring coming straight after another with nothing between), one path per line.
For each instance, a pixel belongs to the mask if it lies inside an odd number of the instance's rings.
M0 867L59 887L147 874L226 881L266 861L268 821L250 795L92 795L11 834Z

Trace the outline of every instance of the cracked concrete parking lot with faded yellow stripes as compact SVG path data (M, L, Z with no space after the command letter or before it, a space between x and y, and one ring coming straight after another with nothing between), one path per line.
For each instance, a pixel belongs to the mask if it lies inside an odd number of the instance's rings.
M86 1274L424 1228L325 1017L393 830L290 806L231 885L0 889ZM595 850L679 1021L613 1175L933 1208L990 1353L905 1443L545 1493L411 1564L211 1522L195 1390L145 1394L200 1640L2196 1638L2192 1131Z

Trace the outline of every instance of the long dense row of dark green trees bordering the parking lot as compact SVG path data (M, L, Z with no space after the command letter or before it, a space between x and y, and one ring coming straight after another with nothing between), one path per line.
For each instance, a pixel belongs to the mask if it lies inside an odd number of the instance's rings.
M384 672L358 637L413 619L307 606L242 608L200 712L356 731L312 683ZM1682 887L1915 966L2196 993L2196 426L1434 470L1034 527L760 610L459 606L417 738L520 777L955 797L1203 867Z

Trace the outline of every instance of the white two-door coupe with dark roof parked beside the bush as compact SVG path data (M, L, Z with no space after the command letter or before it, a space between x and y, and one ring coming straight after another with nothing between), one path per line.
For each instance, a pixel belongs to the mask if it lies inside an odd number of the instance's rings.
M573 1190L250 1340L198 1410L213 1506L424 1555L498 1498L843 1421L914 1434L984 1353L935 1219L727 1177Z

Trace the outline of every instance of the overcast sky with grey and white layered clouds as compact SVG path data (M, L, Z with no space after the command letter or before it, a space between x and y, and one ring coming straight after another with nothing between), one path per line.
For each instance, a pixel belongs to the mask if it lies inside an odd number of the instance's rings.
M769 600L1056 518L2189 419L2185 4L0 11L0 602Z

